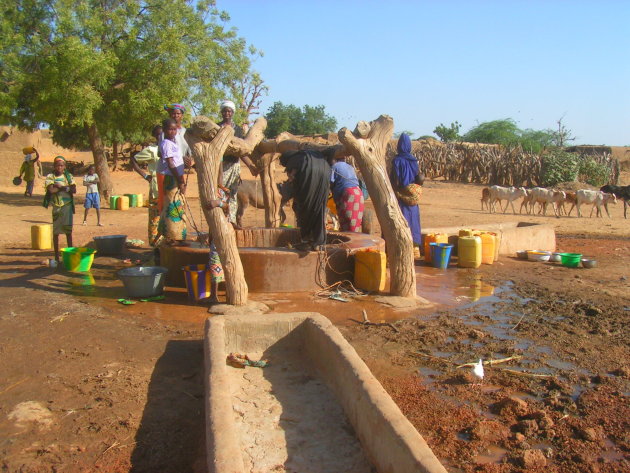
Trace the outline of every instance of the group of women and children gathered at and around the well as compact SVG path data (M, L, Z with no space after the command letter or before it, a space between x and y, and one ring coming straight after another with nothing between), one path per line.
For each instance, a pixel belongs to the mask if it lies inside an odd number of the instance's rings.
M149 184L148 192L148 238L149 244L157 248L162 244L185 244L187 239L186 168L192 165L191 150L185 139L186 128L182 124L185 107L173 103L165 105L169 118L152 129L156 144L136 153L131 163L133 169ZM226 100L220 106L222 120L219 126L231 126L235 136L244 138L246 128L233 121L236 107ZM209 208L222 208L227 220L237 228L237 193L241 182L241 163L256 177L259 170L249 156L223 156L219 173L217 195L208 199ZM302 149L287 151L280 156L285 168L287 183L293 198L300 241L295 248L303 251L321 250L326 244L326 220L329 209L336 211L339 230L361 232L367 193L355 168L342 155L335 155L335 148L325 151ZM25 157L20 176L26 180L25 195L33 192L35 169L41 174L39 153L33 149ZM420 213L418 208L420 186L423 182L418 161L411 154L411 140L402 134L398 140L397 155L391 166L390 180L396 193L401 211L409 224L415 245L421 242ZM89 166L83 177L86 187L83 225L87 222L89 209L94 208L97 224L101 225L99 178L94 166ZM66 235L68 246L72 246L74 195L77 192L74 177L66 169L66 160L57 156L53 172L45 179L46 195L44 206L52 206L53 242L55 259L59 260L59 235ZM286 196L285 196L286 197ZM209 239L209 265L216 300L216 285L223 280L223 270ZM157 253L157 252L156 252Z

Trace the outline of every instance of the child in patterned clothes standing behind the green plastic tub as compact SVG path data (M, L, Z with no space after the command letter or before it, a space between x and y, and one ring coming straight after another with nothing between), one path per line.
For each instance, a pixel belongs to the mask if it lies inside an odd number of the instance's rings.
M59 263L59 235L65 233L68 246L72 246L72 215L74 214L73 194L77 192L72 174L66 171L66 159L57 156L53 162L54 172L46 176L44 186L46 196L44 207L52 203L53 245L55 261Z

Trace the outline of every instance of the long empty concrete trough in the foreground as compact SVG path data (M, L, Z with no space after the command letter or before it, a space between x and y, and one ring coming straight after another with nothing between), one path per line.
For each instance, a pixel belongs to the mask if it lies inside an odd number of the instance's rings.
M234 368L232 352L269 365ZM208 319L205 383L211 473L446 473L320 314Z

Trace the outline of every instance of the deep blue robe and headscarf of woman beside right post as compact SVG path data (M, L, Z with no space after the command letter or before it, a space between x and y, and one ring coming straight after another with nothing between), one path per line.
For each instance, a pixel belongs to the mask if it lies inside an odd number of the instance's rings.
M398 154L392 162L392 184L394 187L406 187L416 180L419 174L418 160L411 154L411 139L408 135L402 134L398 138ZM416 245L422 242L420 233L420 207L417 205L406 205L398 201L400 210L409 224L411 237Z

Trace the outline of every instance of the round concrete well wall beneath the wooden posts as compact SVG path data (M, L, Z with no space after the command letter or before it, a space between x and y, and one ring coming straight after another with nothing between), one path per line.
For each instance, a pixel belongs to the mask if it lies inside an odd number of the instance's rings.
M354 253L372 248L385 250L385 242L364 233L330 232L325 252L287 248L299 242L294 228L246 228L236 230L236 244L251 292L314 291L354 275ZM182 267L207 264L208 247L160 247L160 264L168 268L167 285L185 287Z

